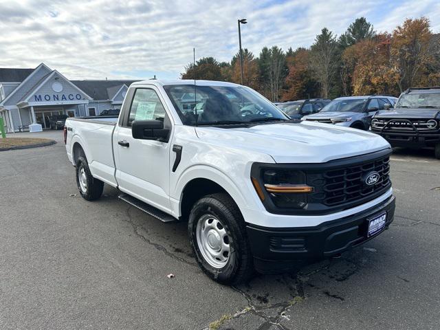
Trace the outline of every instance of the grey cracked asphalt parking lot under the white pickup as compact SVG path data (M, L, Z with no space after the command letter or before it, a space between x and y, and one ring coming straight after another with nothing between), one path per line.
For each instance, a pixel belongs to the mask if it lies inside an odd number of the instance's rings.
M186 223L148 217L109 187L82 199L61 131L42 134L58 143L0 153L0 329L439 329L432 151L395 151L396 217L376 239L226 287L195 264Z

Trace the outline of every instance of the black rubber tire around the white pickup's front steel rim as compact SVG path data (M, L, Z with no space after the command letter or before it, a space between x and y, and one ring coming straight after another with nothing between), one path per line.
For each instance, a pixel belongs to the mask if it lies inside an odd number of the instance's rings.
M228 234L229 258L221 268L212 267L206 261L197 243L197 223L207 214L219 219ZM248 281L254 274L243 217L236 203L227 194L207 195L195 203L188 221L188 235L197 263L214 281L221 284L238 284Z

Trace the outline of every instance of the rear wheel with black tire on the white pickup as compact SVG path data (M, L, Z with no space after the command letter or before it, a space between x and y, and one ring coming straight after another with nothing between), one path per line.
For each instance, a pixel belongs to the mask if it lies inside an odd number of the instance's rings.
M80 183L80 175L85 175L85 184ZM95 179L89 169L87 159L83 156L78 157L76 161L76 185L80 191L81 196L87 201L94 201L101 197L104 189L104 182Z

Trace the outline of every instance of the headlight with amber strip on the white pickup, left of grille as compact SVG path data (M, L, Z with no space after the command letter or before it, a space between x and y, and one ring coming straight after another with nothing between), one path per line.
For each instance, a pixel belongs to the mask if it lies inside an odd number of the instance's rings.
M259 180L252 177L260 199L264 201L268 195L276 208L304 208L307 204L307 193L313 191L306 184L305 173L300 170L267 168L262 170L261 181L263 187Z

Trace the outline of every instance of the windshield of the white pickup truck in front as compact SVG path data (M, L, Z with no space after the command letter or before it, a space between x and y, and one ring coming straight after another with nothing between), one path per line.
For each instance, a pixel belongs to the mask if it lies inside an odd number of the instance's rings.
M248 87L165 85L164 89L186 125L289 120L272 102Z

